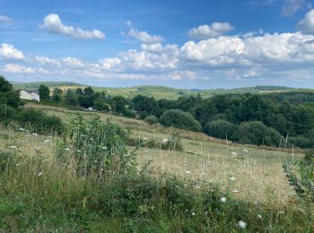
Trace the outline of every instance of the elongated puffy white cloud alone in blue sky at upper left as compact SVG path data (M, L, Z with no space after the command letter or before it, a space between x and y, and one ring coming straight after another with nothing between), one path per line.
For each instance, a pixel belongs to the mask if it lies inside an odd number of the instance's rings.
M83 30L64 25L56 13L46 15L40 27L51 33L63 34L74 39L105 39L105 34L100 30Z

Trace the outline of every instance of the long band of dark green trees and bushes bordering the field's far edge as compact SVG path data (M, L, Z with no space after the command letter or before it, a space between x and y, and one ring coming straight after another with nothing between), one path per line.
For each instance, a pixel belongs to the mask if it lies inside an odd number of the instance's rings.
M234 142L309 148L314 146L314 104L312 94L272 93L217 95L202 99L200 95L179 99L154 99L137 95L133 99L111 97L92 87L55 88L40 85L40 99L62 102L67 106L95 108L124 116L140 117L149 124L174 126L204 132ZM296 101L296 99L299 99Z

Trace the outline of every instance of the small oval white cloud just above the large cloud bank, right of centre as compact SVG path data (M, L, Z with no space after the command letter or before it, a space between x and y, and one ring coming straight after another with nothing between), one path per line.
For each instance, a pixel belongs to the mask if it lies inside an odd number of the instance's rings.
M234 28L228 22L213 22L212 25L200 25L188 31L188 35L196 39L218 38Z

